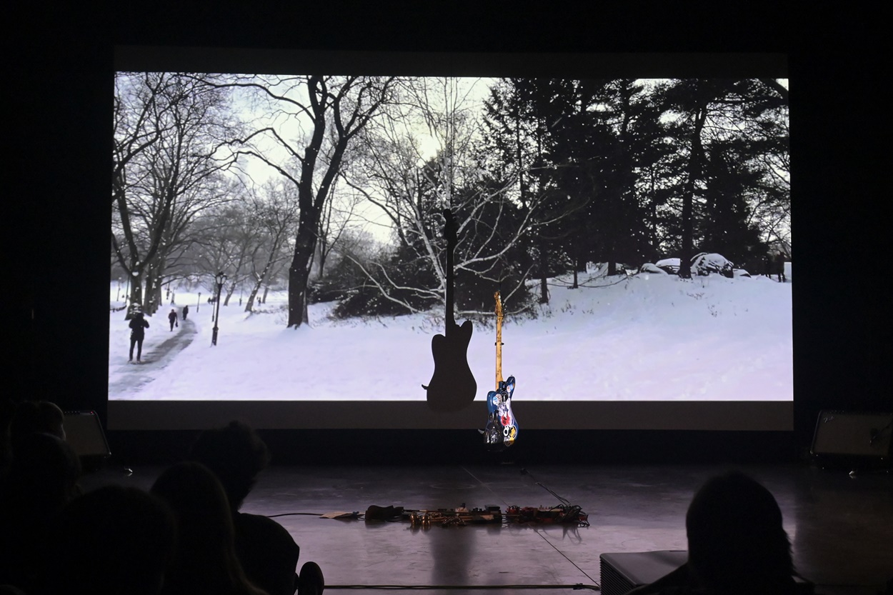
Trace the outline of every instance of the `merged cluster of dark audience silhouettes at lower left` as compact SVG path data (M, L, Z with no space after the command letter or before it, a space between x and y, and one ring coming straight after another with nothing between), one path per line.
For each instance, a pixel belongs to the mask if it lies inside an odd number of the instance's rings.
M263 515L238 511L270 462L245 423L204 432L195 461L151 493L108 486L79 495L78 456L48 402L4 401L0 592L134 595L321 593L320 567Z

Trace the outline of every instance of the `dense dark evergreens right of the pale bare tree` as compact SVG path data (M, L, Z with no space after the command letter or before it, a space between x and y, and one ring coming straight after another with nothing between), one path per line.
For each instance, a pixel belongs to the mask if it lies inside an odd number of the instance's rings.
M531 246L539 274L555 264L585 271L590 260L613 274L616 262L655 253L639 179L666 152L660 115L638 80L510 79L494 90L497 155L517 172L522 197L546 197Z

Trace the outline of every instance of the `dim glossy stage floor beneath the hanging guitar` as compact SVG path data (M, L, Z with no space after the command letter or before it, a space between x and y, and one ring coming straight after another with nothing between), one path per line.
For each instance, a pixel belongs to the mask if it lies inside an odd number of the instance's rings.
M569 457L570 459L571 457ZM127 474L108 465L82 486L108 483L148 489L162 470ZM779 501L797 570L827 595L875 595L893 578L893 476L850 476L811 465L739 465ZM686 549L685 513L718 465L272 466L243 512L277 520L318 563L327 591L357 585L415 585L426 592L572 592L597 587L599 555ZM526 471L526 473L524 473ZM541 484L541 485L540 485ZM409 523L337 520L371 505L407 509L559 503L582 507L588 527L483 524L418 529ZM312 513L294 514L294 513ZM558 588L559 585L569 585ZM444 589L438 589L444 586ZM339 588L340 587L340 588ZM430 587L434 587L433 590ZM459 591L456 587L461 587ZM371 588L361 592L375 592ZM585 592L585 591L577 591Z

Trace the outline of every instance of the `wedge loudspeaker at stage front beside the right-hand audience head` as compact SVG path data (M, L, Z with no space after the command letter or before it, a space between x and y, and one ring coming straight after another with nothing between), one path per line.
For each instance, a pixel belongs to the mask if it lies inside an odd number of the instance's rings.
M651 584L689 561L682 549L602 554L602 595L623 595L643 584Z

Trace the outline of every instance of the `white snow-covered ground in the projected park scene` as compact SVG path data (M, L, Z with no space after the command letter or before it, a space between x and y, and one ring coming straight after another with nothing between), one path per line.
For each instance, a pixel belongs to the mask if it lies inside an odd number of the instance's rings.
M517 378L516 399L793 399L790 282L655 273L584 276L580 289L553 281L538 318L503 324L503 373ZM443 332L430 314L333 321L332 305L318 304L310 326L293 330L285 292L271 293L260 314L236 298L220 308L212 347L213 306L175 295L188 321L169 331L170 305L147 317L140 365L128 363L124 312L110 313L110 399L425 400L431 337ZM475 324L468 348L481 401L494 384L495 335L493 323Z

